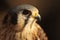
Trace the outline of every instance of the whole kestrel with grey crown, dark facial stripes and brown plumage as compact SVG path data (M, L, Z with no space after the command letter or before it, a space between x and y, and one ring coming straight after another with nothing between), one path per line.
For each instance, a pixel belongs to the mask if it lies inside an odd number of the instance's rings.
M38 20L39 11L30 4L11 8L3 18L0 40L48 40Z

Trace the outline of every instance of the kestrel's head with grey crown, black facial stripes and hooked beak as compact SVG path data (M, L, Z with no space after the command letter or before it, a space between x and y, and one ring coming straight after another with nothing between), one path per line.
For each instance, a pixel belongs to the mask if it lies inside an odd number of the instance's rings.
M12 8L11 10L9 10L8 15L10 16L9 23L13 25L18 24L21 27L24 27L28 23L28 21L33 22L37 19L41 20L39 10L29 4L22 4ZM9 18L8 15L5 17L6 20L8 20Z

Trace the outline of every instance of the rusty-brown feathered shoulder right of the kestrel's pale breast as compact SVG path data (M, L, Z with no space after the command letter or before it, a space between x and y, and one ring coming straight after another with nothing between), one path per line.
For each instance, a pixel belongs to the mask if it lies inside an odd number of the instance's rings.
M37 27L38 29L38 32L37 32L37 36L41 39L41 40L48 40L48 37L44 31L44 29L39 25L39 24L35 24L35 26Z

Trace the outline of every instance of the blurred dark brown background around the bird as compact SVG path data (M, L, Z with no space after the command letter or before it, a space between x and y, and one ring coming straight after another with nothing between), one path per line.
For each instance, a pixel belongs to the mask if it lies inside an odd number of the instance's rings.
M60 0L0 0L0 24L10 8L20 4L36 6L42 17L40 25L49 40L60 40Z

